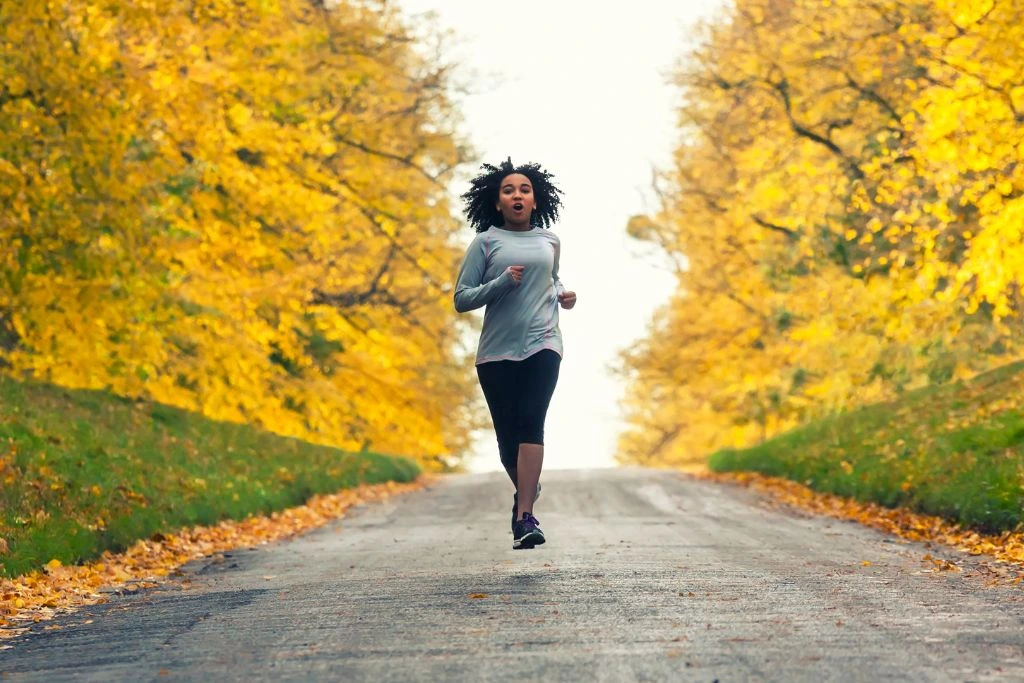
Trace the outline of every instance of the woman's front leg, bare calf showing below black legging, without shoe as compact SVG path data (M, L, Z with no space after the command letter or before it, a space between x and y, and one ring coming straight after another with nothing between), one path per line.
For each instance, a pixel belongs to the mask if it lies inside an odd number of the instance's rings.
M522 361L519 379L518 514L534 513L537 482L544 467L544 422L558 383L561 356L545 349Z

